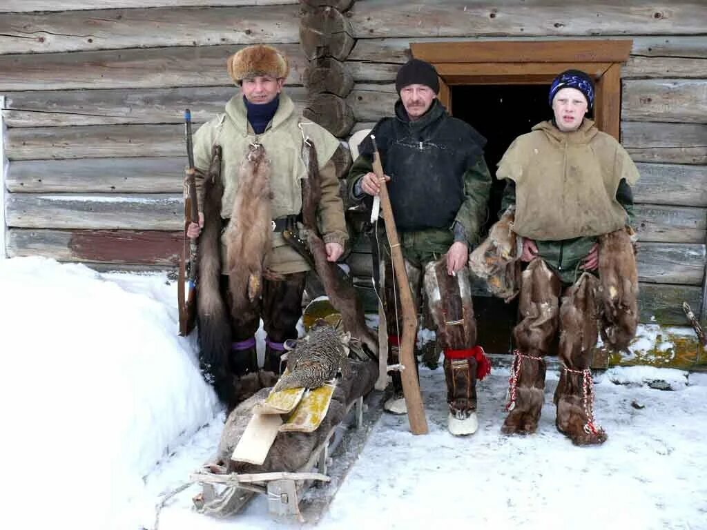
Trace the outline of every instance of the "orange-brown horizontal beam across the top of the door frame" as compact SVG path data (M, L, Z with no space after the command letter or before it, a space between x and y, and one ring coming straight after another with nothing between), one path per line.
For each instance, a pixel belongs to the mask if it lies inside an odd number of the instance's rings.
M414 57L431 63L624 62L631 40L411 42Z

